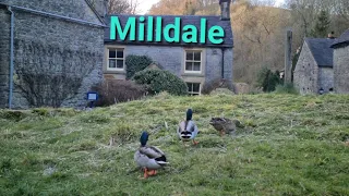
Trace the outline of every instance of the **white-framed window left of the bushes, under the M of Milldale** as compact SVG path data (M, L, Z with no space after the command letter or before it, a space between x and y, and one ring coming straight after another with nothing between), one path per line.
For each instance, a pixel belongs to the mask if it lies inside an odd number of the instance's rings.
M123 48L108 50L108 70L124 70Z

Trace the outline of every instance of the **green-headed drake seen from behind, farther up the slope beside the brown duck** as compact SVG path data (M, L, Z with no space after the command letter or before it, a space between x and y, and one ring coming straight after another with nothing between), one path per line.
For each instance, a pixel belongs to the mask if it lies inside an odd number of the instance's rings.
M198 130L195 122L192 120L193 110L186 110L186 118L185 121L179 123L177 128L177 134L179 138L184 143L192 140L194 145L198 144L194 138L196 137Z

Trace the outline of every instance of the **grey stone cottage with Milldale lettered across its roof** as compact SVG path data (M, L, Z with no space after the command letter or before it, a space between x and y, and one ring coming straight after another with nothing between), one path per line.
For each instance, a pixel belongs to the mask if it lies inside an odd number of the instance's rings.
M117 16L121 27L129 26L130 17L135 17L140 24L144 24L144 35L148 32L157 36L164 36L158 33L158 28L166 28L165 26L176 24L176 19L180 17L180 29L185 28L186 25L196 27L197 35L205 35L202 20L206 20L206 29L217 25L224 29L225 36L221 44L216 45L210 40L205 42L185 42L183 40L168 42L165 39L160 41L147 40L130 40L129 33L127 39L122 40L119 37L111 39L110 28L106 28L105 35L105 61L104 61L104 76L106 78L125 79L125 57L130 54L148 56L164 70L170 71L177 76L186 82L189 93L192 95L200 95L205 82L224 78L232 81L232 48L233 35L230 22L230 2L231 0L220 0L221 16L198 16L198 15L152 15L154 21L158 17L163 20L163 26L153 27L149 22L149 16L143 15L108 15L106 24L110 27L110 19ZM152 23L149 25L149 23ZM155 23L155 22L154 22ZM151 27L149 27L151 26ZM155 26L155 24L154 24ZM136 27L141 28L141 26ZM181 34L184 30L181 30ZM170 37L173 37L173 30ZM143 35L143 36L144 36ZM139 33L136 33L139 36ZM207 34L206 34L207 36ZM148 36L147 36L148 37ZM147 38L145 37L145 38Z

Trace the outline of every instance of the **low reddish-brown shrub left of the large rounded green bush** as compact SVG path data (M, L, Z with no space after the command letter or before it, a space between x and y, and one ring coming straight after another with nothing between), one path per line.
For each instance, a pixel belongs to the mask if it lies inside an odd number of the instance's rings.
M140 99L146 94L145 87L135 84L133 81L106 79L92 89L99 95L96 101L97 107Z

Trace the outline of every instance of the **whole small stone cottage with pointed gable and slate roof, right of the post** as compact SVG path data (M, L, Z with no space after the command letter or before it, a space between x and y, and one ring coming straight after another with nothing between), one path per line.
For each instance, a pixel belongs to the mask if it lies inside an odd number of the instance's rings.
M326 94L334 90L334 39L305 38L293 72L300 94Z

